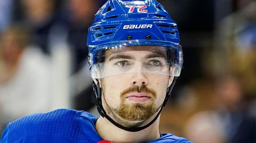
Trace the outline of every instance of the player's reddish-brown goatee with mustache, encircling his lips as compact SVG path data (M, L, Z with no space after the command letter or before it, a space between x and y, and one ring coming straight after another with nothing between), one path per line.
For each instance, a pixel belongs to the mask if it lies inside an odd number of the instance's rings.
M131 92L143 92L151 95L151 103L149 104L141 104L141 103L134 103L134 104L125 104L125 95ZM154 101L156 100L156 92L153 89L147 88L145 86L132 86L130 88L125 89L123 92L120 93L121 97L121 104L112 109L114 113L120 116L123 119L130 120L130 121L144 121L149 119L153 116L159 108L156 107Z

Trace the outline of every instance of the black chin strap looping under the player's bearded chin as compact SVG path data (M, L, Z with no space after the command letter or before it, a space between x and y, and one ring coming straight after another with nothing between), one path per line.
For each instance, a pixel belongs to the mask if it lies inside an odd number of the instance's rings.
M174 87L174 84L176 82L177 77L174 77L173 83L171 84L170 87L167 88L167 93L166 93L166 97L164 100L164 103L161 106L160 111L158 112L157 116L148 124L146 124L145 126L142 127L125 127L120 125L119 123L117 123L116 121L114 121L112 118L110 118L107 114L106 111L104 110L103 106L102 106L102 101L101 101L101 88L99 87L99 81L97 80L97 84L95 84L95 82L93 81L93 93L91 95L92 98L92 103L94 103L97 106L97 110L100 114L100 116L102 116L103 118L105 117L106 119L108 119L112 124L114 124L115 126L117 126L118 128L121 128L123 130L129 131L129 132L137 132L137 131L141 131L147 127L149 127L150 125L152 125L156 119L159 117L163 107L166 105L167 101L169 100L170 96L171 96L171 91Z

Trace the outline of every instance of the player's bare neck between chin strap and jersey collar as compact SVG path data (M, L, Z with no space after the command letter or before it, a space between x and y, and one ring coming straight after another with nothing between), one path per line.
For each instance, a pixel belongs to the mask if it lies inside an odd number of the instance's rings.
M156 114L154 114L150 119L144 121L141 126L144 126L153 120ZM160 137L159 120L160 117L158 117L158 119L146 129L138 132L129 132L116 127L106 118L100 117L96 122L96 130L102 139L117 143L151 142Z

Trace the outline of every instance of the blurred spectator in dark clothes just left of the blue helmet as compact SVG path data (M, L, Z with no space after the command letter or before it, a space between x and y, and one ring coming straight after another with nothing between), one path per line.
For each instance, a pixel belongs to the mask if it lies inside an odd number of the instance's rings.
M67 23L68 42L74 54L74 72L79 71L87 60L87 32L94 20L94 14L100 6L100 0L65 1L62 17Z

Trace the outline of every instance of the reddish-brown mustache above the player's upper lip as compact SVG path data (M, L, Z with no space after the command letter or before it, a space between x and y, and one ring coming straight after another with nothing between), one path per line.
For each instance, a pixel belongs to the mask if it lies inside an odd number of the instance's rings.
M124 97L126 94L130 93L130 92L143 92L143 93L147 93L147 94L151 94L153 98L156 99L157 97L157 93L154 89L152 88L147 88L146 86L132 86L132 87L129 87L127 89L125 89L124 91L122 91L120 93L120 96L121 97Z

